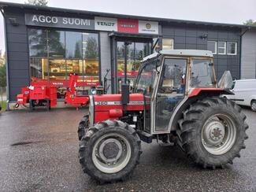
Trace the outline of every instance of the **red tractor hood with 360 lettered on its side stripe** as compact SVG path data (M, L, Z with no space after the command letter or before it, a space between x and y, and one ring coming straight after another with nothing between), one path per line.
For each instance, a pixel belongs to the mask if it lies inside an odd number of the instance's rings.
M125 111L143 111L144 95L130 94L128 105L121 102L121 94L95 94L93 95L95 123L102 120L117 120ZM91 107L91 106L90 106Z

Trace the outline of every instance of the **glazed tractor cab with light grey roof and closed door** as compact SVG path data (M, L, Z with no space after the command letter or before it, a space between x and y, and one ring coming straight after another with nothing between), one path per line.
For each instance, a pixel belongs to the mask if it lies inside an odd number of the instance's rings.
M145 131L169 132L174 110L197 88L216 88L213 54L207 50L162 50L143 59L133 93L147 101Z

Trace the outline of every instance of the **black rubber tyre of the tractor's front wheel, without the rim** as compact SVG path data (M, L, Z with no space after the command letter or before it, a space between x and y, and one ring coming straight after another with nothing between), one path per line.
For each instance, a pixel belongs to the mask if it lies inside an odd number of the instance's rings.
M100 138L104 137L104 135L109 134L122 135L127 139L131 149L128 163L124 168L121 168L120 171L113 173L102 172L102 170L97 168L93 160L93 149L96 146L96 143L98 143ZM141 153L142 150L139 136L132 127L120 120L106 120L95 124L94 127L88 129L87 133L80 141L79 157L83 172L86 172L100 183L116 182L128 178L128 176L132 174L135 166L139 164L139 156ZM97 158L97 156L95 157Z

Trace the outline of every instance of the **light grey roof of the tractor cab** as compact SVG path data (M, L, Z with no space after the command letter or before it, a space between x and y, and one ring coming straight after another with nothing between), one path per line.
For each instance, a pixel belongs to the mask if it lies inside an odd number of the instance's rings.
M160 50L159 54L168 56L213 57L213 53L210 50ZM143 61L157 56L158 53L150 54L144 57Z

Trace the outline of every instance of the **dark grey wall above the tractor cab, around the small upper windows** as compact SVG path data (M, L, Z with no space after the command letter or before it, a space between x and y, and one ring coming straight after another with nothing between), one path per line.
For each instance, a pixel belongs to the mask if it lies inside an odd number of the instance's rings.
M202 39L200 36L208 35ZM163 38L174 39L174 49L207 50L207 40L237 42L237 55L214 55L215 70L217 77L221 78L225 70L230 70L232 77L240 78L239 51L240 29L206 27L204 25L189 24L162 24Z

